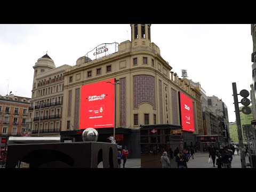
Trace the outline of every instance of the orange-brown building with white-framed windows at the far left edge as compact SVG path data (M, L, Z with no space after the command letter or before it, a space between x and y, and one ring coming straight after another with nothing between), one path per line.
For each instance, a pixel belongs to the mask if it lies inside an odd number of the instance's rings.
M10 136L20 136L26 132L26 121L30 98L13 94L0 95L0 147Z

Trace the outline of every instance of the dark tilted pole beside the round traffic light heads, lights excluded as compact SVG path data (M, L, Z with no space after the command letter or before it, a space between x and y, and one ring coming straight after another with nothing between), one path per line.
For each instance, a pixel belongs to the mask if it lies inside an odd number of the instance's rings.
M234 105L235 105L235 113L236 113L236 125L237 125L237 134L238 134L238 140L239 140L239 150L241 151L240 152L241 166L242 166L242 168L245 168L246 166L245 166L245 156L244 156L245 155L244 143L243 143L243 135L242 135L240 113L239 113L236 83L232 83L232 87L233 87L233 97L234 97Z

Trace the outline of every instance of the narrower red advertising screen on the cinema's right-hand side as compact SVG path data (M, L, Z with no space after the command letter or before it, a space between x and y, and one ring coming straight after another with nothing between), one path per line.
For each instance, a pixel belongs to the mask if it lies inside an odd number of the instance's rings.
M183 131L195 131L192 99L179 92L180 117Z

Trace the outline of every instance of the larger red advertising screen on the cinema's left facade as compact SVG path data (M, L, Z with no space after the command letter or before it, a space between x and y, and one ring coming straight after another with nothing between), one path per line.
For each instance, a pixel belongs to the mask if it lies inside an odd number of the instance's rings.
M115 78L82 86L79 129L114 127L114 83Z

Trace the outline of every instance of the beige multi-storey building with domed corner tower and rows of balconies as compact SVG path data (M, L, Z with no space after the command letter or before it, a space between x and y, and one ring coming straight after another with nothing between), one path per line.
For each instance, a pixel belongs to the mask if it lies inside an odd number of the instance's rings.
M58 137L62 122L63 73L71 66L55 67L46 53L35 63L28 129L35 137Z

